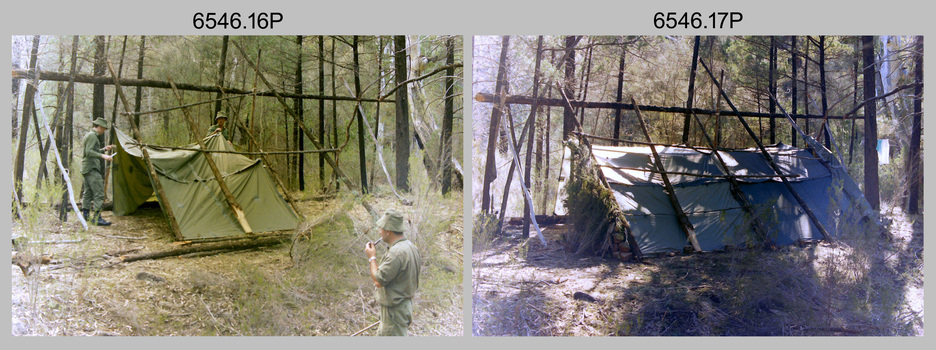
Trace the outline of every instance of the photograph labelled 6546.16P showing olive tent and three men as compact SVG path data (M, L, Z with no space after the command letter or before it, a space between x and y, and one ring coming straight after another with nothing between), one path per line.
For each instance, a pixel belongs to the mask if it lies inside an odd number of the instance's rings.
M461 336L461 36L12 36L12 335Z

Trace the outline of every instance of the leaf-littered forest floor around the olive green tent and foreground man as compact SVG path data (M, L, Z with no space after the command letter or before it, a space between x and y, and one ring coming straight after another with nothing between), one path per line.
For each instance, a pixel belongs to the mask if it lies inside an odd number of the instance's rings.
M121 262L119 255L175 247L156 206L81 229L70 213L17 220L20 252L48 256L12 275L13 335L351 335L377 322L364 244L379 236L353 198L299 202L311 239L210 256ZM406 215L423 256L410 335L462 335L462 200L368 200ZM51 209L47 211L51 212ZM378 256L386 245L378 246ZM14 258L15 260L15 258ZM361 333L374 335L376 327Z

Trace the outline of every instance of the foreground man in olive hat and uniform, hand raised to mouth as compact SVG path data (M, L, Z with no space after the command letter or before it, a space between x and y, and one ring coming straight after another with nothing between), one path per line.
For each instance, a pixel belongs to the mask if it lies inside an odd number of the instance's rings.
M413 296L419 287L419 251L403 236L400 213L388 210L377 221L377 227L380 239L390 245L379 263L375 243L368 242L364 247L380 303L377 334L405 336L413 321Z

